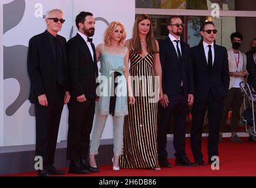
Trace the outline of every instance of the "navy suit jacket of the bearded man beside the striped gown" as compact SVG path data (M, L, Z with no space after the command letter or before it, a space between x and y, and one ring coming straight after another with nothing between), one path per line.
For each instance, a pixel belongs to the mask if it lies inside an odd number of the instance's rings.
M189 45L181 41L181 65L169 37L159 44L159 52L162 66L162 90L164 94L178 95L181 80L185 97L187 98L188 94L194 94L194 79Z

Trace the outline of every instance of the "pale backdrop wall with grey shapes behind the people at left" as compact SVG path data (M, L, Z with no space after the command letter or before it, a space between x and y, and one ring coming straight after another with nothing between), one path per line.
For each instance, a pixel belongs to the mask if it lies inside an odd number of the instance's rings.
M26 72L26 55L29 39L46 29L44 20L46 11L52 8L60 8L64 11L66 22L59 35L65 36L67 40L77 32L75 16L80 11L92 12L97 20L94 43L98 45L103 42L106 23L115 20L126 26L128 38L131 37L135 1L1 0L2 7L0 25L1 32L3 30L4 32L0 33L0 146L34 144L35 117L29 110L31 103L28 101L29 79ZM1 23L2 18L4 21ZM74 25L73 30L72 25ZM64 106L58 142L67 140L67 122L68 110L67 106ZM102 139L112 138L111 123L109 118Z

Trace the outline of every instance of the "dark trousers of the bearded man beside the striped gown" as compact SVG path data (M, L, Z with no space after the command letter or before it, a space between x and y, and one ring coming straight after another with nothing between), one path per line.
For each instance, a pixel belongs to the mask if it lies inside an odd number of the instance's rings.
M159 104L158 118L158 155L160 158L167 158L167 133L171 116L174 120L174 148L176 157L184 157L185 153L185 129L188 113L187 97L181 92L179 95L168 96L167 108Z

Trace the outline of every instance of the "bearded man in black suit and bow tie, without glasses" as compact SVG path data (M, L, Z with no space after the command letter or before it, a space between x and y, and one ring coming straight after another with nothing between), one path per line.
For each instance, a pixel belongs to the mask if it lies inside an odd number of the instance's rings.
M95 19L91 12L80 12L75 24L78 33L68 41L68 73L71 99L68 104L68 148L69 173L87 174L98 172L96 166L87 162L90 133L94 120L97 58L92 36ZM98 100L98 99L97 99Z

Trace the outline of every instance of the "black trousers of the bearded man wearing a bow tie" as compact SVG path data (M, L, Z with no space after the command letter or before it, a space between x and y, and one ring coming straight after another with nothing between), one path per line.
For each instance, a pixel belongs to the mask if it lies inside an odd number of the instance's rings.
M71 98L68 109L67 159L87 160L90 133L94 121L95 99L87 99L86 102L81 103Z

